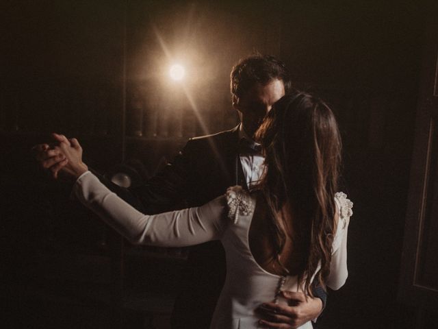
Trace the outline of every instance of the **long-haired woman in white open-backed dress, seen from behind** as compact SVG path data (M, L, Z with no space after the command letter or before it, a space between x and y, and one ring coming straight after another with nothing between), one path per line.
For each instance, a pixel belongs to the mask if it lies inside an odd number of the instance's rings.
M283 97L257 138L266 169L255 191L234 186L203 206L152 216L103 186L81 161L75 139L60 149L68 162L64 172L77 179L77 198L132 243L181 247L220 240L227 279L211 328L259 328L269 323L258 319L256 308L266 300L285 303L282 291L312 295L313 280L342 287L352 203L336 193L341 141L333 113L320 99Z

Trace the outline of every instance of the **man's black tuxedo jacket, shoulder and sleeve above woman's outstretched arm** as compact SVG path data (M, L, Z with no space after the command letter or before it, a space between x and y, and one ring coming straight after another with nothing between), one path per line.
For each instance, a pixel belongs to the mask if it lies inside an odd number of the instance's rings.
M131 189L146 212L175 210L177 204L201 206L244 182L238 161L238 127L191 138L172 163L146 184Z

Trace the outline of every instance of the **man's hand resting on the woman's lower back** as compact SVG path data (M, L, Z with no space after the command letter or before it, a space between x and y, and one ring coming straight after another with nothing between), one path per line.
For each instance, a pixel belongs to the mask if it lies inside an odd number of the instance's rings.
M318 317L322 311L322 300L318 297L307 297L304 293L283 291L286 305L265 303L257 308L261 315L260 324L266 328L292 329L298 328Z

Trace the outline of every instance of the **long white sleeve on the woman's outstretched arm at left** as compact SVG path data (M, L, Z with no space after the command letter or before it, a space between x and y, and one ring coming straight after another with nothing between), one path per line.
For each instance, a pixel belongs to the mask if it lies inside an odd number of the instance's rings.
M225 197L200 207L144 215L89 171L79 177L73 193L84 206L136 244L183 247L218 240L228 223Z

